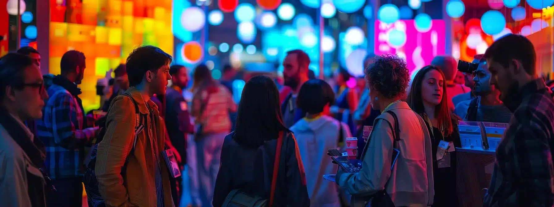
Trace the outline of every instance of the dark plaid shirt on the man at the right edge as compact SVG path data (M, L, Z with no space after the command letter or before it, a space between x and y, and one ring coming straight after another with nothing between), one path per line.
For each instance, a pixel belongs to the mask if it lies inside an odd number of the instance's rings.
M496 149L484 206L552 206L554 102L542 79L526 84L516 95L520 97L514 99L514 107L507 104L514 115Z

